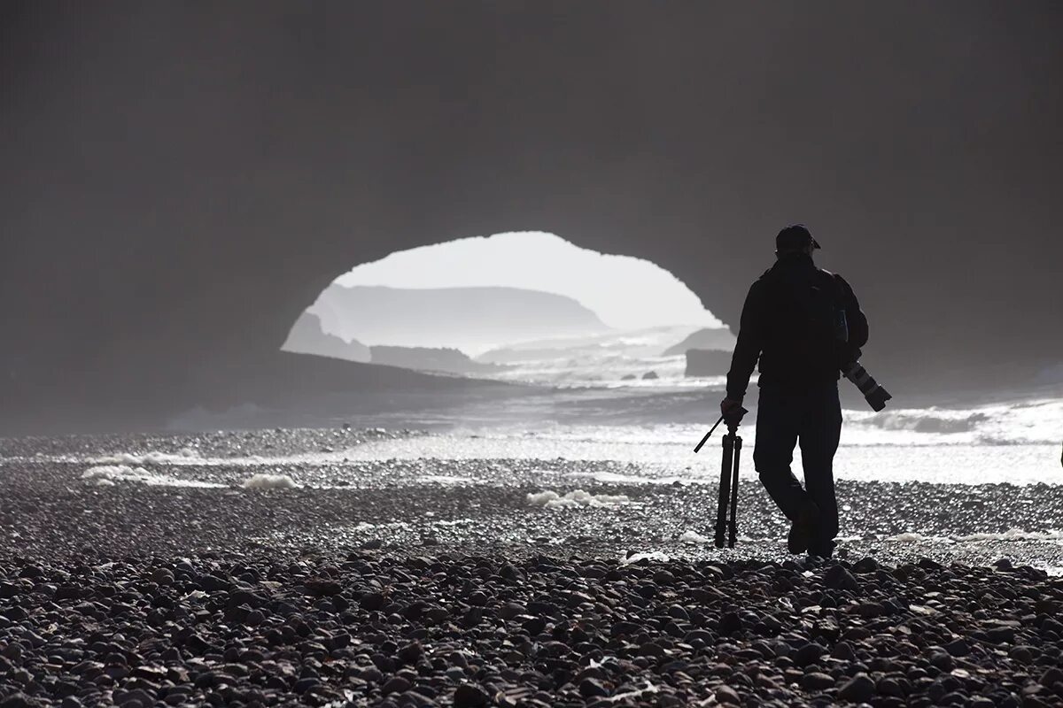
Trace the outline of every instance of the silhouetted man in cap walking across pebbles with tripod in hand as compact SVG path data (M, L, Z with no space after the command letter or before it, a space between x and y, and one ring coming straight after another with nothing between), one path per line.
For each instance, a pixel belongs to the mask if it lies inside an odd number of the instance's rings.
M830 557L838 535L833 459L842 430L840 367L867 342L867 320L853 289L820 270L820 247L807 228L788 226L775 238L775 265L746 296L727 374L727 418L741 416L742 399L760 360L757 443L760 481L791 521L791 553ZM805 487L790 471L800 442Z

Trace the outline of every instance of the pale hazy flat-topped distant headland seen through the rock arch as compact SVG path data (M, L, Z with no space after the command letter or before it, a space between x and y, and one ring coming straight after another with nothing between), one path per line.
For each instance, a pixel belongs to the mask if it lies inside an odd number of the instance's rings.
M310 312L343 339L370 345L468 351L544 336L608 329L571 297L518 288L405 290L330 286Z

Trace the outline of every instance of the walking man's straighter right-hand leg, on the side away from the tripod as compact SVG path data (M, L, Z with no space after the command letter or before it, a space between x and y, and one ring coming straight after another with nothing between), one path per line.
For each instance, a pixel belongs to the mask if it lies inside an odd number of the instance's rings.
M800 454L805 487L820 508L820 520L809 553L830 557L838 535L838 500L834 497L834 452L842 432L838 386L809 392L800 416Z

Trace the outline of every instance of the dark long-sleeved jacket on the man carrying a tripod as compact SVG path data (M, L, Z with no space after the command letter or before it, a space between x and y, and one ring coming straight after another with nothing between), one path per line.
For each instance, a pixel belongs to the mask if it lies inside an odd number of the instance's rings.
M845 311L847 343L834 334L832 307ZM805 387L837 381L866 343L867 318L849 284L806 254L784 254L749 288L727 397L742 400L758 358L761 386Z

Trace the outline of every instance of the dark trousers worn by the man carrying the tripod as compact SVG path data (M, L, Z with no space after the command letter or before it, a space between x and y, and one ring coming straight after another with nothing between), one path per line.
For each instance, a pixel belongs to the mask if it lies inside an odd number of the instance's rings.
M838 535L833 462L841 432L837 382L803 388L761 386L754 465L769 496L791 521L808 501L819 507L820 521L809 546L815 555L830 556ZM790 470L798 442L805 487Z

